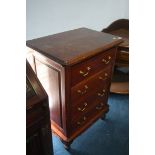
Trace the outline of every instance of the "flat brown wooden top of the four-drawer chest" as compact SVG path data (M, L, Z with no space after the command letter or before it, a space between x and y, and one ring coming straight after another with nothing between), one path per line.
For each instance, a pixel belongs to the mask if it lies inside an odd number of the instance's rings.
M62 65L73 65L122 42L122 39L113 39L114 37L79 28L29 40L26 45Z

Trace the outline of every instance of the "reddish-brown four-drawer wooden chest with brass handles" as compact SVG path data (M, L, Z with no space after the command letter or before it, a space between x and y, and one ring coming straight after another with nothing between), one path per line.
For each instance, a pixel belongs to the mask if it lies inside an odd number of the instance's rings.
M29 60L49 96L52 130L65 148L108 112L116 46L122 41L114 38L79 28L27 41Z

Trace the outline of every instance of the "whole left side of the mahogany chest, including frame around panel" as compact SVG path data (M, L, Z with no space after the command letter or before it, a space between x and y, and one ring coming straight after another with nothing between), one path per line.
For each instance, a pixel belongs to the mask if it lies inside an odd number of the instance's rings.
M33 51L36 74L49 97L50 119L62 133L66 132L64 67Z

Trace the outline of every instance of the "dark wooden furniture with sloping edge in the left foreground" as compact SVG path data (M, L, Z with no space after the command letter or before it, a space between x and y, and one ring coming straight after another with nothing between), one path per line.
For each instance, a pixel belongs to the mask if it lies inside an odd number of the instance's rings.
M26 62L26 154L52 155L48 97Z

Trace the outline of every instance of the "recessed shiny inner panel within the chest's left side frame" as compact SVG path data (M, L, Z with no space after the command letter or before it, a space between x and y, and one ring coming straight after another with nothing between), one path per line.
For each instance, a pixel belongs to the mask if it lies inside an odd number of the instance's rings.
M54 120L59 126L62 127L61 122L61 87L60 72L48 66L47 64L41 63L36 59L36 72L41 83L44 85L45 90L49 95L49 106L51 109L51 119Z

